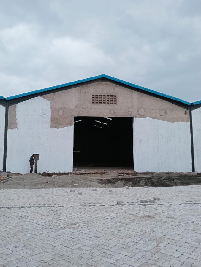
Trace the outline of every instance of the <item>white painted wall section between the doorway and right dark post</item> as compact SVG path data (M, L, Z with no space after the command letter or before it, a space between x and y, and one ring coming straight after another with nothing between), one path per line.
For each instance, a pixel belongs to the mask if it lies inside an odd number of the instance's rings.
M134 118L133 149L137 172L192 171L189 122Z

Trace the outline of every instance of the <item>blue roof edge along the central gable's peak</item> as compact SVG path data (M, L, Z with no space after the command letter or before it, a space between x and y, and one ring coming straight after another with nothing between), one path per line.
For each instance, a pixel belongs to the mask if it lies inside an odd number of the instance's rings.
M39 90L35 90L35 91L31 91L31 92L28 92L28 93L23 93L23 94L19 94L19 95L15 95L15 96L9 96L6 99L7 100L11 100L11 99L20 98L20 97L23 97L23 96L29 96L29 95L33 95L33 94L37 94L37 93L42 93L42 92L45 92L45 91L50 91L50 90L53 90L53 89L58 89L58 88L62 88L62 87L70 86L70 85L75 85L75 84L78 84L78 83L83 83L83 82L96 80L96 79L99 79L99 78L107 78L109 80L113 80L115 82L119 82L119 83L122 83L122 84L125 84L125 85L128 85L128 86L131 86L133 88L137 88L137 89L149 92L149 93L153 93L153 94L158 95L158 96L162 96L162 97L165 97L165 98L172 99L174 101L178 101L178 102L186 104L188 106L191 105L190 102L184 101L184 100L182 100L180 98L176 98L174 96L169 96L169 95L166 95L166 94L163 94L163 93L159 93L157 91L154 91L154 90L151 90L151 89L148 89L148 88L145 88L145 87L142 87L142 86L130 83L130 82L119 80L117 78L108 76L106 74L101 74L101 75L90 77L90 78L86 78L86 79L83 79L83 80L78 80L78 81L75 81L75 82L68 82L68 83L64 83L64 84L61 84L61 85L56 85L56 86L52 86L52 87L48 87L48 88L44 88L44 89L39 89Z

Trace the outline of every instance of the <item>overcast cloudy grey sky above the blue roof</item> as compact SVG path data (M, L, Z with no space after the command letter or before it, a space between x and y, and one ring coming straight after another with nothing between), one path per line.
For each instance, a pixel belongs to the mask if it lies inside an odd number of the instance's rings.
M0 0L0 95L107 74L201 99L200 0Z

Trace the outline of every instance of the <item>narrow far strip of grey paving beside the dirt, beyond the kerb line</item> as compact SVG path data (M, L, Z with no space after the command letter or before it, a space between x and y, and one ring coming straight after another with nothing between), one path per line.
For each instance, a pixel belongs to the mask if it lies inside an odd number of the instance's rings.
M36 205L87 205L87 204L115 204L117 200L124 203L139 203L140 199L160 197L157 203L201 203L201 186L181 187L130 187L125 188L73 188L55 189L11 189L0 190L0 207L4 206L36 206ZM78 195L82 192L82 195Z

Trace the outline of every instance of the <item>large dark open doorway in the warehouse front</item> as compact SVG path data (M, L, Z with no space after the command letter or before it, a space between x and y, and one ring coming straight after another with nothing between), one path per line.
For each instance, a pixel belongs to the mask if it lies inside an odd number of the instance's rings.
M73 167L133 169L132 117L74 117Z

